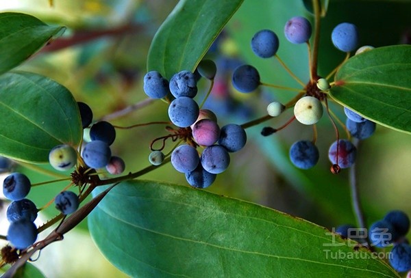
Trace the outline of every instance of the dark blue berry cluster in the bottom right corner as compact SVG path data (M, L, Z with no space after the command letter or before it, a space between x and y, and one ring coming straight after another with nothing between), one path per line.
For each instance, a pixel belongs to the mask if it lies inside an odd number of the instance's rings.
M373 222L368 234L361 234L353 225L340 225L336 228L336 233L344 238L350 238L367 246L366 236L371 247L385 248L391 247L388 260L398 272L411 270L411 246L406 239L410 230L410 219L402 210L391 210L383 219Z

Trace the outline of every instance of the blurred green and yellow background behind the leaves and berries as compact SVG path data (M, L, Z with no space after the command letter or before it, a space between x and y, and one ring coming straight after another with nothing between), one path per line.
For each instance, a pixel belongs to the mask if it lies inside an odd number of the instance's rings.
M298 87L278 61L253 55L249 42L256 31L275 31L280 40L279 57L300 79L308 81L306 45L290 44L283 33L284 24L292 16L312 19L302 2L245 0L212 46L207 57L217 63L219 82L216 82L208 105L216 111L221 126L229 122L242 124L265 115L269 102L286 102L295 95L269 88L247 95L234 92L229 73L237 64L256 66L266 83ZM62 41L52 42L49 48L43 48L20 69L44 74L69 88L77 101L90 105L95 120L107 119L118 126L129 126L168 120L167 107L162 101L150 102L122 117L112 116L146 99L142 77L146 72L149 45L176 3L176 0L55 0L50 6L47 0L0 0L0 9L26 12L49 24L65 25L63 38L68 47L53 49ZM332 46L330 40L335 25L343 21L355 23L360 30L361 44L409 43L410 11L410 1L330 1L327 16L322 21L319 74L326 76L345 56ZM85 40L71 44L70 39L79 38L79 33L85 34ZM199 82L201 92L205 93L208 86L208 81ZM330 107L345 121L341 107L334 104ZM290 164L288 148L297 140L312 139L312 128L293 122L270 137L260 135L262 127L282 126L291 115L292 111L286 111L269 122L249 128L245 149L232 154L229 169L221 173L207 190L253 201L329 228L342 223L355 224L349 199L348 171L342 171L338 176L329 171L327 150L336 135L326 116L318 125L317 144L321 158L319 164L308 171L300 171ZM125 160L126 172L137 171L149 165L149 143L166 134L161 125L117 130L112 152ZM340 134L345 137L343 129ZM172 146L173 143L168 142L168 150ZM388 128L378 126L373 137L360 143L356 169L367 223L383 217L391 209L410 214L410 157L410 135ZM29 177L36 182L51 180L51 177L34 171ZM177 173L171 165L164 165L142 178L186 184L184 175ZM38 206L44 206L66 185L60 182L39 186L29 197ZM47 221L52 213L46 211L40 221ZM4 219L1 214L1 234L6 230ZM67 234L62 242L44 249L35 265L46 277L125 276L99 254L88 236L86 223Z

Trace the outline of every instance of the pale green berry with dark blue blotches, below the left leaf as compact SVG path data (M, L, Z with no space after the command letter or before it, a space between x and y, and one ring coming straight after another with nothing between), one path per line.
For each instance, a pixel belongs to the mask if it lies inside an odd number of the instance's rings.
M71 145L56 145L49 152L49 163L56 170L69 170L77 163L77 151Z

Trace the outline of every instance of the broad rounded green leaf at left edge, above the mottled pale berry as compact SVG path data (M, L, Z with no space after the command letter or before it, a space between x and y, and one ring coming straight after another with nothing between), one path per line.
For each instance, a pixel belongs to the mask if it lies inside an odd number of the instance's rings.
M45 163L55 145L78 145L82 122L66 87L38 74L0 76L0 154Z

